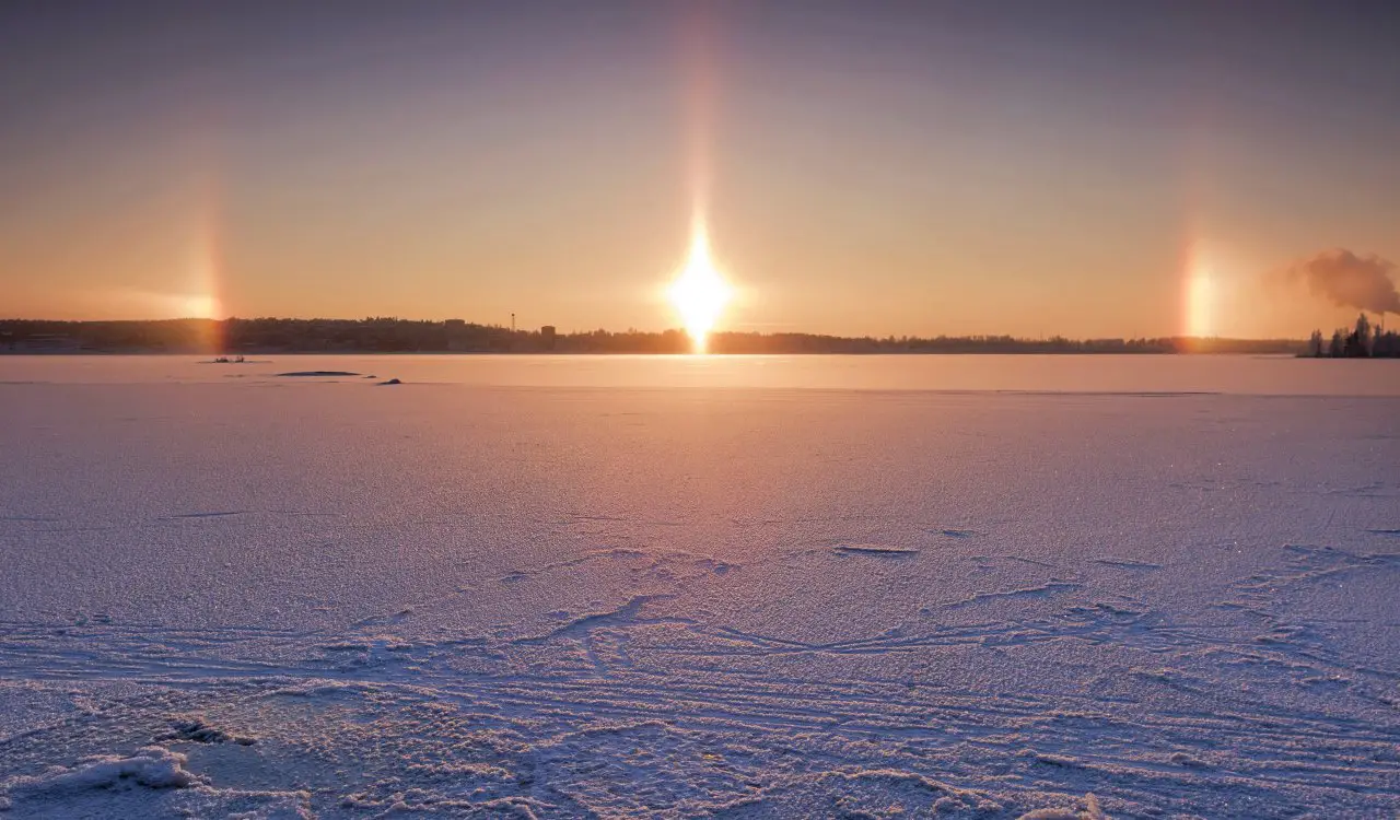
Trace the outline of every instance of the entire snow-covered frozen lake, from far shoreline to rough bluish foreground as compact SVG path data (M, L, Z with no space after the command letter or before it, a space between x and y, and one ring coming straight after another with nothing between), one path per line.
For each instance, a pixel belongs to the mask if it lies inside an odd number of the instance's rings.
M0 357L0 817L1400 807L1397 362L269 360Z

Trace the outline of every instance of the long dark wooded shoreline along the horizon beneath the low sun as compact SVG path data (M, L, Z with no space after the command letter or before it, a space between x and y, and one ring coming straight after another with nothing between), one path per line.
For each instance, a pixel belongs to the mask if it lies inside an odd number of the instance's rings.
M715 333L707 348L728 354L895 353L1288 353L1288 339L1015 339L1012 336L846 337L812 333ZM171 319L150 322L0 320L0 353L689 353L682 330L556 333L461 319Z

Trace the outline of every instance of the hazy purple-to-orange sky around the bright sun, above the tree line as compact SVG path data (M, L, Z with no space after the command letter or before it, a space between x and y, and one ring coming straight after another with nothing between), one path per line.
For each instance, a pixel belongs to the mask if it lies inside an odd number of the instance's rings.
M0 6L0 316L1306 336L1400 260L1400 10ZM1382 263L1383 264L1383 263ZM1390 271L1393 273L1393 271Z

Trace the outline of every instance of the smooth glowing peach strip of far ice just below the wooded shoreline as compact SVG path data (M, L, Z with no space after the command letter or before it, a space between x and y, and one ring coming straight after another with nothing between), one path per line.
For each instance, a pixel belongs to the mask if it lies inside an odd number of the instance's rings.
M0 357L0 383L269 381L342 371L419 385L1400 396L1385 360L1280 355L175 355Z

